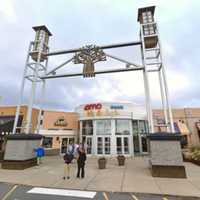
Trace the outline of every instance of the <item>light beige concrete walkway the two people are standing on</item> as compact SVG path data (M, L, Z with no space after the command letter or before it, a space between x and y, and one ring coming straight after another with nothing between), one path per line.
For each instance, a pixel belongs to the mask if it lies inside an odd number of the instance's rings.
M123 167L114 158L108 159L107 169L97 168L97 159L88 158L86 177L76 178L76 163L71 178L63 180L62 157L46 157L41 166L26 170L0 169L0 182L15 184L109 192L137 192L200 197L200 167L185 163L187 179L154 178L148 169L148 159L129 158Z

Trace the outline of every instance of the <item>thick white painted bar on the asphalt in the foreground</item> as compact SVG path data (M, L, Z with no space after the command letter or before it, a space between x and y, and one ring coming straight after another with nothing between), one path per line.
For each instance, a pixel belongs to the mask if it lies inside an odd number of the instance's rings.
M50 189L50 188L40 188L40 187L32 188L27 193L82 197L82 198L90 198L90 199L93 199L94 196L96 195L96 192L87 192L87 191L81 191L81 190Z

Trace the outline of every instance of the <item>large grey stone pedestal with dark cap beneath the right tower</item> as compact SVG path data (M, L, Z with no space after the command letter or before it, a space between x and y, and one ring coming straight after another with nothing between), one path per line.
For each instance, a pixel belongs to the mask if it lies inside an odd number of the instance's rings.
M180 135L173 133L154 133L148 136L153 177L186 178L180 138Z

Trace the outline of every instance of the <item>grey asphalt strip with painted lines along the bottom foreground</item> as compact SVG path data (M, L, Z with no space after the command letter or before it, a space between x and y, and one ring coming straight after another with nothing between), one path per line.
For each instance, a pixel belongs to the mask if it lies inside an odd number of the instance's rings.
M94 192L54 188L39 188L0 183L1 200L198 200L197 197L156 194Z

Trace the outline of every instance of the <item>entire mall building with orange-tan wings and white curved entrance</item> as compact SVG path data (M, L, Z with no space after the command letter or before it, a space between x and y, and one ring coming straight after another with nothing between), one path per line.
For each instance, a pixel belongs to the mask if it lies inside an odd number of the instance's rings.
M0 107L0 148L12 133L16 106ZM176 133L182 146L200 144L200 108L173 109ZM39 109L32 112L32 132L37 133ZM22 106L17 132L24 132L27 106ZM162 110L153 110L155 132L165 132ZM148 151L149 134L144 106L133 103L97 102L80 105L74 112L43 110L39 133L46 149L66 152L69 143L82 143L91 155L141 155ZM1 149L0 149L1 150Z

